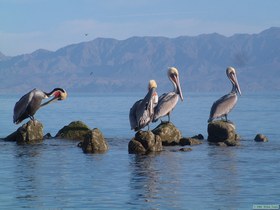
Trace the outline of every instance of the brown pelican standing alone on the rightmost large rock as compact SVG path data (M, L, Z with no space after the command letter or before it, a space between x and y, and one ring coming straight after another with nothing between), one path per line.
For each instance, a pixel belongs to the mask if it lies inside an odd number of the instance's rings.
M237 81L236 72L233 67L228 67L226 74L232 83L231 92L224 95L212 105L208 122L212 122L215 118L225 117L227 120L228 113L233 109L237 102L237 93L241 95L241 90Z

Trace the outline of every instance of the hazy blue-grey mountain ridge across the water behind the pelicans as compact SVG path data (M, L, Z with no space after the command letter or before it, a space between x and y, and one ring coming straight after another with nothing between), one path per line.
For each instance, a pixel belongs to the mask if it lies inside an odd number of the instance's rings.
M55 52L44 49L8 57L0 53L1 92L63 87L79 92L142 92L155 79L172 89L167 67L180 71L184 92L230 90L233 66L242 90L280 90L280 28L258 34L97 38Z

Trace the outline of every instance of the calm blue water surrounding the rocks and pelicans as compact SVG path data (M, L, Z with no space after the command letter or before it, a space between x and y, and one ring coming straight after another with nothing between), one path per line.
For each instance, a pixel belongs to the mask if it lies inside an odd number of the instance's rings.
M183 136L203 134L221 94L185 93L171 120ZM252 209L280 204L280 94L244 94L229 115L242 136L239 147L193 146L191 152L130 155L128 110L141 95L78 95L38 111L44 132L55 135L82 120L98 127L110 150L84 154L75 141L45 140L19 146L0 141L1 209ZM19 96L1 96L0 136L17 126ZM152 125L155 127L156 125ZM253 141L257 133L267 143Z

